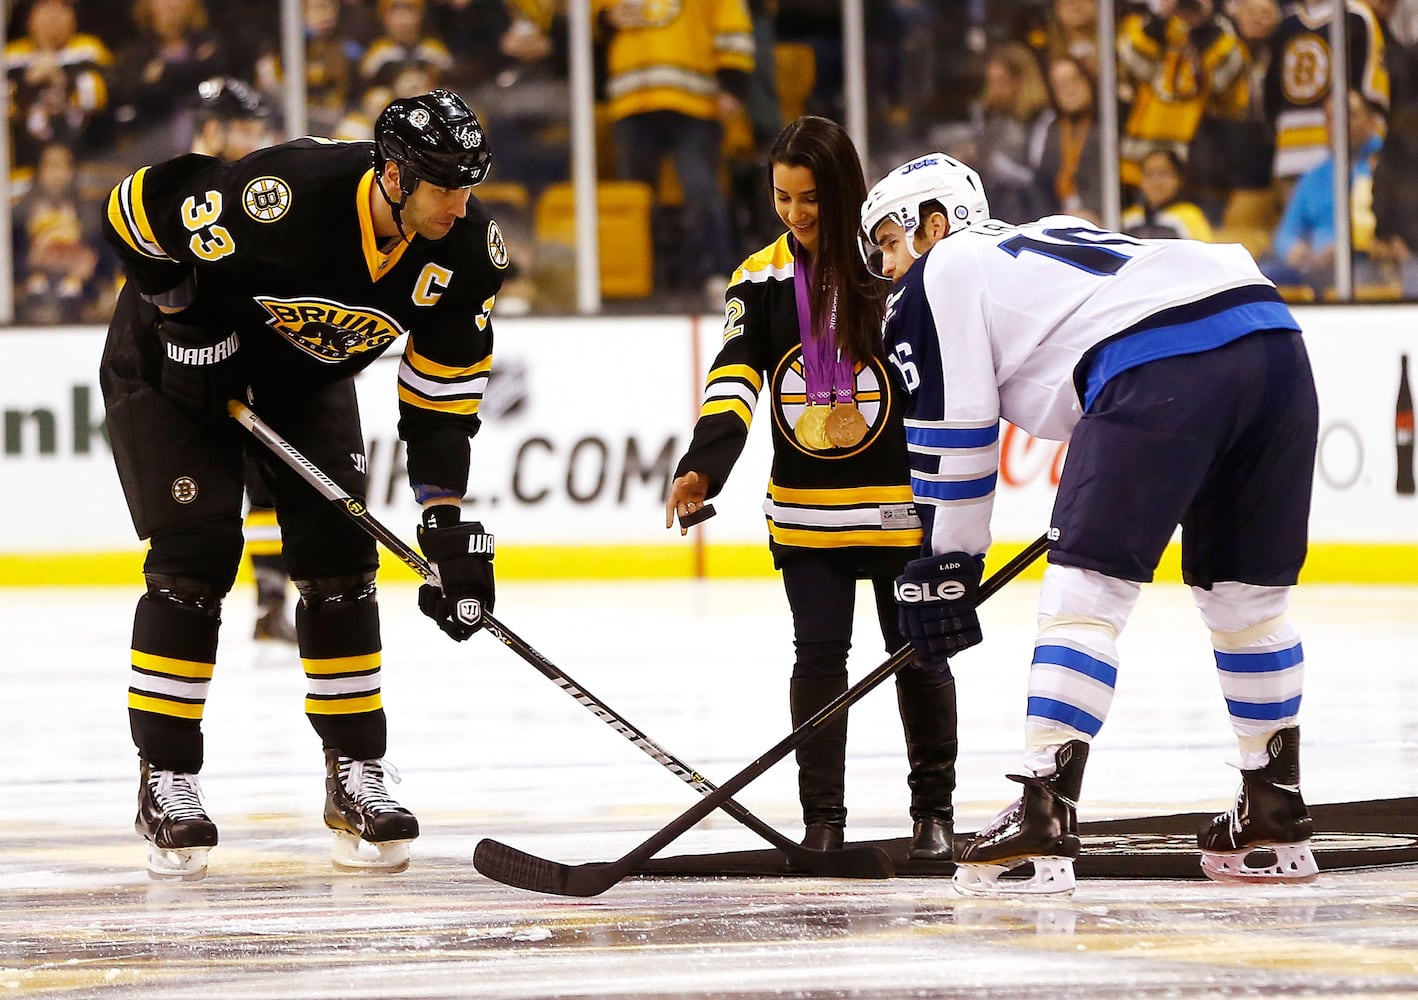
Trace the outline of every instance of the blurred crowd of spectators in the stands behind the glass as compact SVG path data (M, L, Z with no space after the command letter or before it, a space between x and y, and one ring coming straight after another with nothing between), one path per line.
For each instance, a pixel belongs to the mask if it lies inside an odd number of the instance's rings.
M777 231L767 143L804 112L844 121L839 3L588 3L608 182L604 308L718 309L733 264ZM1350 51L1332 60L1340 3ZM203 81L235 78L281 106L281 3L9 7L16 319L106 322L118 281L98 238L108 189L193 148ZM567 203L552 197L570 179L564 0L302 9L308 130L367 139L396 96L462 95L495 150L476 193L513 252L499 312L569 309L574 271L556 218ZM1418 298L1418 0L1122 0L1116 94L1099 92L1096 0L882 0L865 11L869 176L940 149L980 170L998 218L1102 221L1099 111L1116 101L1122 227L1244 243L1300 302L1333 298L1326 95L1347 65L1354 295ZM623 189L610 182L638 197L613 199ZM607 228L621 217L631 230ZM621 235L635 227L645 251L618 254L640 245ZM613 282L637 265L644 279Z

